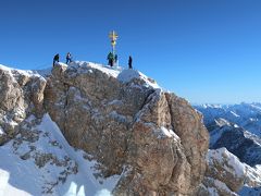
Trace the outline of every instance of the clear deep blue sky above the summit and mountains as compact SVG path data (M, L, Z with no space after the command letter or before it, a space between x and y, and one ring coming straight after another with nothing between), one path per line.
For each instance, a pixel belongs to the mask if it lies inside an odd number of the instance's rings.
M190 102L261 101L260 0L2 0L0 63L105 63L111 29L121 64Z

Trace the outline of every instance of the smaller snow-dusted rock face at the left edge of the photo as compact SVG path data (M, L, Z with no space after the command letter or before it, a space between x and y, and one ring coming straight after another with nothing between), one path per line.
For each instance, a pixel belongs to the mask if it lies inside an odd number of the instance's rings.
M0 66L0 145L12 138L29 114L44 112L46 79L38 74Z

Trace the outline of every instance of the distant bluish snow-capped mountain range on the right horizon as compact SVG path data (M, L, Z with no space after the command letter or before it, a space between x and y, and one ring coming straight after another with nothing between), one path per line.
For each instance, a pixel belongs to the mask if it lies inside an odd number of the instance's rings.
M210 148L227 148L249 166L261 164L261 103L201 105Z

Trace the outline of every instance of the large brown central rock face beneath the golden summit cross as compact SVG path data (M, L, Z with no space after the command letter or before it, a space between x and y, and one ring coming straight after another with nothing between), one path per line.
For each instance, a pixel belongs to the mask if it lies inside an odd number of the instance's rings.
M57 65L46 110L73 147L99 162L97 177L122 173L114 195L194 195L209 144L201 115L137 73L124 79L91 63Z

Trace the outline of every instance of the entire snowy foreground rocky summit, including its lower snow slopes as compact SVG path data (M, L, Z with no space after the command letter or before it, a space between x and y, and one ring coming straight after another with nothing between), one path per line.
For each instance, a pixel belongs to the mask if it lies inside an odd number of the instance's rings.
M202 115L142 73L90 62L38 73L0 66L0 195L237 195L260 185L260 168L209 150Z

